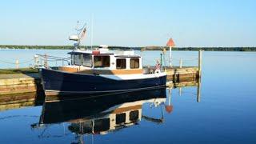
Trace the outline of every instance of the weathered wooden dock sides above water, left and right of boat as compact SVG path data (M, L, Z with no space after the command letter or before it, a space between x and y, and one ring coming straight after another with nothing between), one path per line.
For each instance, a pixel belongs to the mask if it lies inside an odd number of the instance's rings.
M177 82L193 82L199 77L198 67L166 67L167 86ZM0 74L0 97L6 94L42 93L40 74Z

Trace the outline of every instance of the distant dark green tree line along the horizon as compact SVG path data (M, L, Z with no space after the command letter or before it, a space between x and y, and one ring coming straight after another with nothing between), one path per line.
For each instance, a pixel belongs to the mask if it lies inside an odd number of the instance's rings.
M93 48L98 46L92 46ZM18 45L0 45L2 49L48 49L48 50L72 50L73 46L18 46ZM90 49L91 46L80 46L81 49ZM128 47L128 46L109 46L110 50L169 50L166 46L145 46L145 47ZM256 51L256 47L174 47L172 50L185 51Z

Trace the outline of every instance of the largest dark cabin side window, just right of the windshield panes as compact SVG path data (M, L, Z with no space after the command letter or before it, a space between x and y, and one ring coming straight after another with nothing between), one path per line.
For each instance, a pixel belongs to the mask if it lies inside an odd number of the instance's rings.
M94 55L94 67L110 67L110 56Z

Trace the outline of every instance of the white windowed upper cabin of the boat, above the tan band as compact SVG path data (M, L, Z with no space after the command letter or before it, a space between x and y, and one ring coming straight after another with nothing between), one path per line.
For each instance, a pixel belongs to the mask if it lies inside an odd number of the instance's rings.
M125 50L121 54L109 50L74 50L71 55L72 66L84 66L89 69L132 70L142 69L142 58L134 50Z

